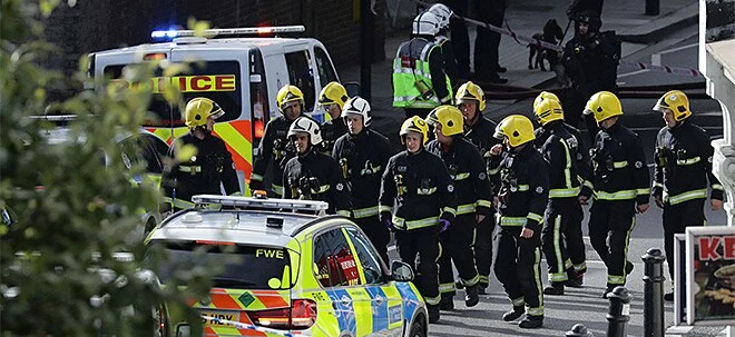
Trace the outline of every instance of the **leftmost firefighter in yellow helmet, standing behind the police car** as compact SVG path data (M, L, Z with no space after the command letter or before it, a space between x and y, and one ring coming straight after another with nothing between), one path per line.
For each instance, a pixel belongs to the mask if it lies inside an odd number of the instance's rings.
M215 119L225 111L213 100L197 97L186 105L185 115L189 132L176 138L168 151L174 165L161 177L166 201L161 211L192 208L193 196L219 195L220 184L227 195L241 192L233 157L225 142L212 135Z

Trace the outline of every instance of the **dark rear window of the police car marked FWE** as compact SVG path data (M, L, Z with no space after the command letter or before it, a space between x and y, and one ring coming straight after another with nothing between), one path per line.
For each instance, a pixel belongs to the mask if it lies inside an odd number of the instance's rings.
M290 289L291 259L286 249L199 244L168 240L151 245L163 247L167 260L157 269L161 283L174 272L197 267L215 268L213 287L231 289Z

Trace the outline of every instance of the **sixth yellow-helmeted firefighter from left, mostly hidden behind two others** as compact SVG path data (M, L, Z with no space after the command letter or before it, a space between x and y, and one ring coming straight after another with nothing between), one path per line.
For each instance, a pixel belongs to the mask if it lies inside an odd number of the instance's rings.
M500 143L492 137L498 126L482 116L484 110L484 91L480 86L469 81L459 87L454 97L457 107L464 117L464 138L472 142L486 160L486 168L490 165L490 149ZM493 174L489 171L489 174ZM497 174L497 172L496 172ZM477 225L477 241L474 242L474 262L480 274L478 293L486 294L489 284L490 268L492 267L492 237L496 229L494 209ZM461 286L461 284L458 284Z

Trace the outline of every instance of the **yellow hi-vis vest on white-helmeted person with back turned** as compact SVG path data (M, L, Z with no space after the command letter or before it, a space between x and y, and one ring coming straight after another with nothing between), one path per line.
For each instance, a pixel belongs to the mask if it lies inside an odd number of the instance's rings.
M441 98L431 82L429 54L439 44L423 38L414 38L401 43L393 60L393 107L433 109L441 105ZM449 97L452 87L444 75Z

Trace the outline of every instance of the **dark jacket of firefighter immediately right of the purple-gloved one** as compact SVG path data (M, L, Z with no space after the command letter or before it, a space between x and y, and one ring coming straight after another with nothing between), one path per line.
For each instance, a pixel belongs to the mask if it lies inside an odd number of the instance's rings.
M492 190L480 151L462 137L454 137L450 146L438 140L427 145L427 151L444 161L449 176L454 181L457 215L492 212Z

